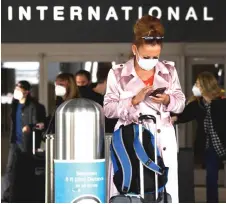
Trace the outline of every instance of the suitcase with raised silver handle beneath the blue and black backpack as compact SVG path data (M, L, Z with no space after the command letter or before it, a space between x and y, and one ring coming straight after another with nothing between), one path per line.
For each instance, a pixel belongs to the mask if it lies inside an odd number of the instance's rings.
M147 120L152 120L155 124L155 131L154 131L154 154L155 154L155 163L157 164L157 127L156 127L156 118L153 115L141 115L139 117L139 140L141 144L143 143L143 135L142 135L142 128L143 122ZM151 203L153 200L153 196L150 198L144 194L144 171L143 171L143 164L140 161L140 194L121 194L117 196L113 196L110 198L110 203ZM158 197L158 174L155 173L155 195L154 195L154 202L153 203L171 203L171 196L164 192L164 196L161 198Z

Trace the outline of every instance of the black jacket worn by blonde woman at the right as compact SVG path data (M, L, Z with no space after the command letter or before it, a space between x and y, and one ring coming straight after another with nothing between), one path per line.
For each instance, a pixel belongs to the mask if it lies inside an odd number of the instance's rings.
M193 101L189 103L184 111L177 115L177 123L186 123L192 120L196 120L198 123L197 136L195 140L195 146L201 148L195 148L196 151L203 153L206 144L206 134L204 131L204 118L206 110L203 104L203 99ZM226 99L217 98L211 102L211 118L213 121L213 127L220 138L224 148L226 148Z

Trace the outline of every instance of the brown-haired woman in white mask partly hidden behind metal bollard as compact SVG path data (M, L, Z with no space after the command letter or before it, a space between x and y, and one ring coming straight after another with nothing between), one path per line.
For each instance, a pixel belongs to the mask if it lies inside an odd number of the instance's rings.
M47 119L45 134L55 133L55 111L65 101L79 98L78 87L75 84L74 76L70 73L61 73L55 81L56 108L53 115Z

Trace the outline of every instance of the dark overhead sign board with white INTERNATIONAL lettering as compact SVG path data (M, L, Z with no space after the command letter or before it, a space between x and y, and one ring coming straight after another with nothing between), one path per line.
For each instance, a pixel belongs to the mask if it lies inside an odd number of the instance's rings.
M2 0L2 42L131 42L144 14L162 20L167 42L222 42L225 8L225 0Z

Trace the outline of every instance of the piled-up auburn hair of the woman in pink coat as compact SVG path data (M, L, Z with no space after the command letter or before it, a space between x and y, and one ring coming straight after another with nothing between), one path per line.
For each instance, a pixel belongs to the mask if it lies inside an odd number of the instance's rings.
M133 43L139 47L143 44L162 44L162 40L145 40L142 37L164 37L164 27L160 20L154 16L145 15L137 20L133 27L134 41Z

